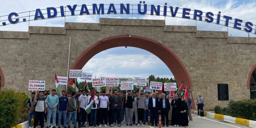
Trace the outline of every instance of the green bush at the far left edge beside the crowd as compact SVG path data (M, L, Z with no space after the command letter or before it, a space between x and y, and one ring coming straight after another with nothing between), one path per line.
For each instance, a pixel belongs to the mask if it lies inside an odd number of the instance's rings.
M19 123L21 109L27 99L12 89L0 92L0 128L11 128Z

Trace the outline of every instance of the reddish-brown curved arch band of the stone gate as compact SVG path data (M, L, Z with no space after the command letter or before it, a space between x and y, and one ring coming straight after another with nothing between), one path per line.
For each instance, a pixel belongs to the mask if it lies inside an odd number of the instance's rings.
M181 60L164 44L149 38L131 35L119 35L99 40L97 43L86 49L74 62L71 69L82 69L84 65L97 53L113 47L137 47L147 50L160 58L171 70L179 86L181 82L189 88L192 87L192 81L187 69ZM192 94L192 93L191 93ZM192 96L193 97L193 96Z

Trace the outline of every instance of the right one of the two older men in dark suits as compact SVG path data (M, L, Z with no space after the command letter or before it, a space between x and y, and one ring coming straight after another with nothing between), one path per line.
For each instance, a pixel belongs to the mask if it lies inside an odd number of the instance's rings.
M170 102L168 99L165 97L165 94L162 93L162 98L159 100L159 106L158 106L160 113L161 113L161 119L163 122L163 127L164 127L164 117L166 118L166 127L169 127L169 118L168 118L168 113L170 111Z

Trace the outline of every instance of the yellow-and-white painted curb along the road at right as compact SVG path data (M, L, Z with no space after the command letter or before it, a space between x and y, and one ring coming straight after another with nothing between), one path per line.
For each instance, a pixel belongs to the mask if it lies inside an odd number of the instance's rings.
M195 111L194 113L197 113L197 111ZM220 114L216 114L213 112L204 112L203 115L205 115L207 117L219 119L219 120L228 121L230 123L243 124L243 125L247 125L252 128L256 128L256 121L253 121L253 120L247 120L247 119L236 118L236 117L231 117L231 116L226 116L226 115L220 115Z

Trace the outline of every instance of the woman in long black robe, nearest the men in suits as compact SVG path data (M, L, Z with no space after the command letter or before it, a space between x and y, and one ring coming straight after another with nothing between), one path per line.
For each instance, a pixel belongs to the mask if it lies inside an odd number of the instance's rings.
M171 125L179 127L179 108L178 108L178 95L175 94L174 99L171 101L172 114L171 114Z

